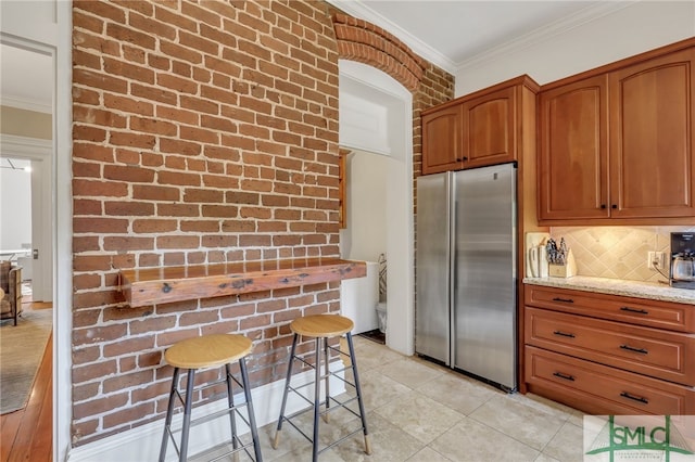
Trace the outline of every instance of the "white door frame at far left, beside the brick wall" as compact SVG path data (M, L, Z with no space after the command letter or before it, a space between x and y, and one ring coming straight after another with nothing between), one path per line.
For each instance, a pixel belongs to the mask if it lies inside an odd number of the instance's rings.
M70 1L0 2L0 41L52 57L50 229L53 248L53 460L67 459L72 419L72 13Z

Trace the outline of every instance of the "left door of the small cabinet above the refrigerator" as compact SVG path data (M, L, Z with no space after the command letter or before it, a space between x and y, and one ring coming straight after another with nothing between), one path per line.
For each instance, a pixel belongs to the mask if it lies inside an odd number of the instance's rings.
M460 104L422 115L422 175L464 168Z

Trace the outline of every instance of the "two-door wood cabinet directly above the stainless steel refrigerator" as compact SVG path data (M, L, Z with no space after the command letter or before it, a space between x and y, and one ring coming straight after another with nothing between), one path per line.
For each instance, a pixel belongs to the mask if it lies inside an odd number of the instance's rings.
M422 175L517 161L538 85L517 77L422 112Z

